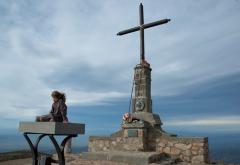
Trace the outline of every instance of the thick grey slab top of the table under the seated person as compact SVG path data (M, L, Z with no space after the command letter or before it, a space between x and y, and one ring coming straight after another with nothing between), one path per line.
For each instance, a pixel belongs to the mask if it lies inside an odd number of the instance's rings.
M54 135L84 134L85 124L60 122L20 122L19 132Z

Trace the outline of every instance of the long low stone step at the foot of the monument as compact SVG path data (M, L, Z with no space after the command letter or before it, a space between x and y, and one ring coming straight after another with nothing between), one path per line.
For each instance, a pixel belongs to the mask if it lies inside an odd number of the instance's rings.
M160 161L163 155L157 152L83 152L82 158L87 160L110 160L127 163L129 165L148 165Z

